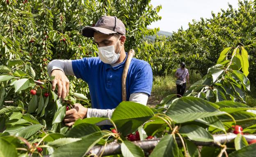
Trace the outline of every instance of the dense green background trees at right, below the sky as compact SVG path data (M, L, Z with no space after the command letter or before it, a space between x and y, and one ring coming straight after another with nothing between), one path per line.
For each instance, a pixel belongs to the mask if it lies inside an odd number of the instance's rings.
M166 75L174 70L180 62L185 62L190 70L195 70L201 75L206 75L208 67L215 65L219 52L226 47L243 46L248 51L249 61L241 62L242 66L250 64L249 71L245 71L249 79L255 82L256 78L256 1L242 0L238 3L238 9L230 4L227 10L212 13L209 19L189 23L189 28L179 29L173 32L171 38L156 38L154 42L144 42L139 49L139 58L142 58L153 67L156 75ZM228 52L226 49L223 54ZM240 53L241 54L241 53ZM233 58L240 60L242 53ZM220 60L231 55L224 56ZM244 57L246 60L246 58ZM219 60L219 61L220 61ZM219 64L219 62L217 62ZM236 65L233 65L236 66Z

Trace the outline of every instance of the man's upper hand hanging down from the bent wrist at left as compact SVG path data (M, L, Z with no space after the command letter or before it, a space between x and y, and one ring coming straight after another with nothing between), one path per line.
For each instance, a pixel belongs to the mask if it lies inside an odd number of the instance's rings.
M65 73L61 70L53 70L51 76L55 76L52 83L52 90L54 91L56 88L56 84L58 86L58 97L65 97L69 94L69 79L66 77Z

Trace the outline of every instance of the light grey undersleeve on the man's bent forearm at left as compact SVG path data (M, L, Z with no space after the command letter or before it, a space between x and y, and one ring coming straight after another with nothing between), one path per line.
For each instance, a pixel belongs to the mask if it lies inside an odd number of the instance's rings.
M72 60L52 60L47 65L49 76L56 69L63 71L65 75L75 75L72 69Z

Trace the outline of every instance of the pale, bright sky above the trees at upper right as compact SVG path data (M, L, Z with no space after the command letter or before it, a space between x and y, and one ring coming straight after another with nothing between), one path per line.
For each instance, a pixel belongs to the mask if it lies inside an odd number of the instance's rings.
M153 22L149 28L160 27L161 31L178 31L181 26L188 28L188 23L193 19L211 18L213 11L215 14L229 8L230 3L233 8L238 8L238 0L151 0L153 7L162 5L158 15L161 20Z

